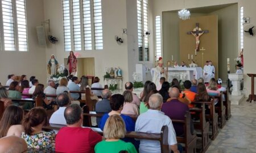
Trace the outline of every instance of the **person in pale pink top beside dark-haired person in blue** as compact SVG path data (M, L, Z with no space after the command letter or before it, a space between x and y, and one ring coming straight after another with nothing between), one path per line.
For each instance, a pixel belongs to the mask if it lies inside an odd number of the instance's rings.
M121 111L122 114L139 114L139 108L136 104L132 104L133 101L133 93L131 91L124 91L123 96L125 97L125 103L123 104L123 109Z

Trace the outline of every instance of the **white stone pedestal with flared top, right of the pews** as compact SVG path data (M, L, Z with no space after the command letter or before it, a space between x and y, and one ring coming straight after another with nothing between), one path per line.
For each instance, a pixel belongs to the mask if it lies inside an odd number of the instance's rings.
M232 80L232 84L233 84L233 91L231 95L234 95L234 96L242 95L240 88L241 88L241 81L243 79L243 74L232 73L228 75L229 75L229 79Z

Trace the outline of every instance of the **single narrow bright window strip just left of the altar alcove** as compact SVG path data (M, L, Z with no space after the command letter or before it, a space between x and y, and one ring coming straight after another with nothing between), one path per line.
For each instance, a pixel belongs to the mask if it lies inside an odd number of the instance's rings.
M156 60L158 60L162 56L160 16L155 16L155 52Z

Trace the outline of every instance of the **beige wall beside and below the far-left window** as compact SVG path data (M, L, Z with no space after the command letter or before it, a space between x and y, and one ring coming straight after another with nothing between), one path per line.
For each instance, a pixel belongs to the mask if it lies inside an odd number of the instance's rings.
M0 82L5 85L8 74L35 75L39 82L46 83L46 53L38 45L36 26L44 21L42 0L27 0L28 52L0 52Z

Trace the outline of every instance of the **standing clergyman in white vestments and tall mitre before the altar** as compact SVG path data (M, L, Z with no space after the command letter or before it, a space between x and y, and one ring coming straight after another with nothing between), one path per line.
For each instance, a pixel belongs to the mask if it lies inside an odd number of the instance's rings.
M163 67L163 59L159 57L158 66L151 69L152 82L155 83L155 86L158 87L160 85L160 78L164 77L167 79L167 70Z

